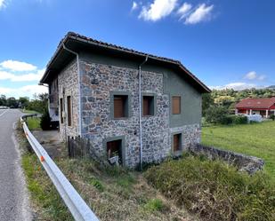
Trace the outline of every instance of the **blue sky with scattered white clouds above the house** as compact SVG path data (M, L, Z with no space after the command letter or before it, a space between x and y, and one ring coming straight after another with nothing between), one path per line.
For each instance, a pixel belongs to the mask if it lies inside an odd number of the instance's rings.
M47 91L69 31L178 59L211 89L275 84L274 0L0 0L0 94Z

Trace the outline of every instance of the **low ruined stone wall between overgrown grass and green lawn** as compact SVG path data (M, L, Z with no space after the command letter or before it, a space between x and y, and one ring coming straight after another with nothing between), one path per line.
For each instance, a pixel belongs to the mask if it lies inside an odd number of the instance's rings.
M264 161L255 156L247 156L227 150L221 150L211 146L195 145L190 146L190 152L193 154L203 154L210 160L222 159L225 162L233 164L239 170L245 170L249 174L254 174L257 170L263 170Z

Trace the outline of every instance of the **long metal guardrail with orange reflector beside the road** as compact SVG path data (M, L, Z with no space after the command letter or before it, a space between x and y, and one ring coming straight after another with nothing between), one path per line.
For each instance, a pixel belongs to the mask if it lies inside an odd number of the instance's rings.
M99 221L99 219L94 215L93 211L87 206L85 201L77 193L77 190L73 185L69 183L69 180L61 172L58 166L53 162L52 158L44 150L43 146L39 144L36 138L28 130L28 126L24 119L27 117L34 116L35 114L24 115L20 118L23 125L25 135L28 138L30 146L32 146L38 159L47 172L48 176L51 178L53 185L60 193L62 200L65 202L69 211L75 220L79 221Z

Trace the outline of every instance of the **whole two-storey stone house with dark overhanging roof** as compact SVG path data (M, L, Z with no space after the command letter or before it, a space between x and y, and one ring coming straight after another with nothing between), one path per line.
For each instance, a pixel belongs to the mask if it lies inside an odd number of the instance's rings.
M127 167L200 142L201 95L210 90L177 60L69 32L40 83L49 85L62 138L90 138Z

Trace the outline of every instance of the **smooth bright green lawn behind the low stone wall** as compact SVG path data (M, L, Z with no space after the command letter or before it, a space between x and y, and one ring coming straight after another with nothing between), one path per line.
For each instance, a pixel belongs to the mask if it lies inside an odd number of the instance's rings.
M275 122L204 127L202 144L260 157L275 180Z

